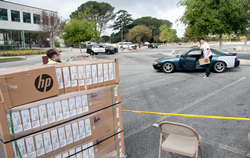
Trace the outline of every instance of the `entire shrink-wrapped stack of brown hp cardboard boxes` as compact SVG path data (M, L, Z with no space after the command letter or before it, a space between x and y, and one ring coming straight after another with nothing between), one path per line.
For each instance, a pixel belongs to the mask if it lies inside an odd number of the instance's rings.
M118 60L0 70L0 157L124 157Z

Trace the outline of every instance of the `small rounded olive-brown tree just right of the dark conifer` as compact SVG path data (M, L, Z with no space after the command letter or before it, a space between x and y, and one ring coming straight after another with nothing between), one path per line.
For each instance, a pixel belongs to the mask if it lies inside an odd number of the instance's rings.
M132 39L136 40L138 36L141 37L140 41L144 44L145 41L152 38L152 31L143 25L138 25L129 30L129 34L131 34Z

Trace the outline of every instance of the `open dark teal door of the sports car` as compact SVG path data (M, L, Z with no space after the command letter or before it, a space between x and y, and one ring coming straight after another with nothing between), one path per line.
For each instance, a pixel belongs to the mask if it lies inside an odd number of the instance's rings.
M180 57L179 65L182 70L194 71L197 59L192 57L192 55L189 56L189 54L192 54L192 51Z

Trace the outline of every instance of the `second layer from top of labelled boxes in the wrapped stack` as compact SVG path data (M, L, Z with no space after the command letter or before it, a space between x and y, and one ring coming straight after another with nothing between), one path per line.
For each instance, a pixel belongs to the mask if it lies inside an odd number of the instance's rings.
M120 86L112 85L67 93L11 109L14 135L23 137L34 132L87 116L121 102ZM0 139L10 141L10 109L0 103ZM15 116L15 117L14 117Z

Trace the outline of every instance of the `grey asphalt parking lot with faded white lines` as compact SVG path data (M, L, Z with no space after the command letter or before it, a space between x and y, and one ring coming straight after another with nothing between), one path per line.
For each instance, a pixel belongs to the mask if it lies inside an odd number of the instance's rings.
M224 47L231 49L233 46ZM215 47L216 48L216 47ZM152 63L171 53L188 48L159 47L115 55L98 55L101 59L119 58L121 99L123 110L194 114L209 116L250 117L250 66L240 65L224 73L213 73L203 79L205 71L178 71L170 74L155 71ZM250 59L250 52L238 52ZM63 53L63 58L70 56ZM28 58L15 63L2 63L0 67L34 64L41 57ZM215 120L149 114L122 113L125 147L128 158L155 158L159 151L159 129L153 124L162 121L184 123L202 136L201 148L205 158L243 157L249 142L250 122ZM250 152L249 152L250 153ZM162 151L162 157L171 157ZM183 156L175 155L183 158Z

